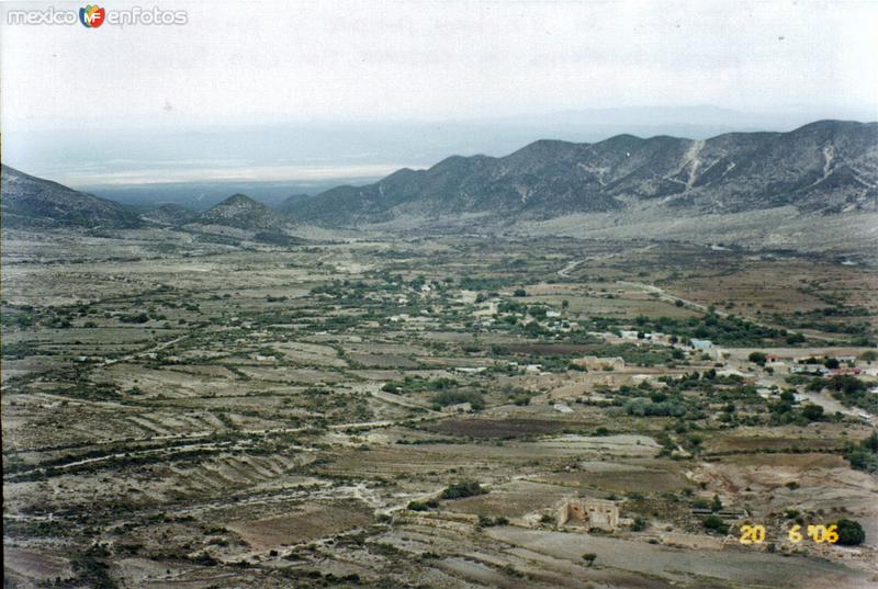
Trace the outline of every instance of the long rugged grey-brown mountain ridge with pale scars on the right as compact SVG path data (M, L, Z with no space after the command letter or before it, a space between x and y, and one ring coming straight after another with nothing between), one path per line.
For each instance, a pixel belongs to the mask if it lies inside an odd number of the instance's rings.
M785 205L840 213L877 204L878 123L820 121L789 133L706 140L539 140L502 158L454 156L427 170L402 169L283 208L307 223L359 225L462 214L515 223L644 207L668 216Z

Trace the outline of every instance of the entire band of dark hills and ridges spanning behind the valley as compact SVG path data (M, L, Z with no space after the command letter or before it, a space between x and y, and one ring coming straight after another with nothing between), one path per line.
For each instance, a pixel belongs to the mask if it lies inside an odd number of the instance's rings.
M226 227L272 242L296 227L323 226L695 241L722 235L806 249L841 236L838 247L878 246L870 229L878 222L878 123L819 121L703 140L538 140L505 157L452 156L372 184L296 195L280 211L244 194L202 213L168 204L138 211L3 166L1 204L4 227Z

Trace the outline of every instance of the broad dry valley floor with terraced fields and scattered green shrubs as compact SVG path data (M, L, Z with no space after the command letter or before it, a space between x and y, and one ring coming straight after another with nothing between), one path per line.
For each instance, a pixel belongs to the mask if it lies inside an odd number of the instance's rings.
M855 455L875 396L750 359L854 355L876 386L874 269L173 230L10 231L2 256L7 587L878 585ZM560 525L577 498L618 523ZM842 518L864 543L788 539ZM747 522L767 541L741 544Z

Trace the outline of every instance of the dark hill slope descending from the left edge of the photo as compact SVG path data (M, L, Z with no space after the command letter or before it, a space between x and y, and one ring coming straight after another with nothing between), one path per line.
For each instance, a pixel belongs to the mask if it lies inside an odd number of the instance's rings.
M78 192L2 166L0 205L4 227L108 227L143 225L119 203Z

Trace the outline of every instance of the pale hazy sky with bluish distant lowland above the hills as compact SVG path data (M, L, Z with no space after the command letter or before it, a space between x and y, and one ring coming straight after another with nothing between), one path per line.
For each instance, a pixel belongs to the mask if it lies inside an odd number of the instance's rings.
M867 2L245 5L91 31L8 25L3 4L3 161L77 189L314 192L540 138L878 118Z

